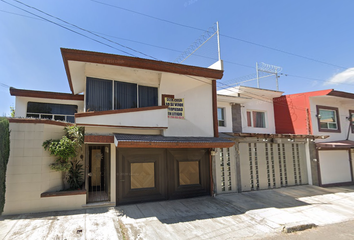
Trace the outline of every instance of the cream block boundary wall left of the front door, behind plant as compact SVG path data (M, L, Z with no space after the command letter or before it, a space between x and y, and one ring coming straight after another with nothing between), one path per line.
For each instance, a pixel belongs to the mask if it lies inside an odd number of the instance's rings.
M86 195L41 198L41 193L61 189L61 173L49 164L55 157L42 144L63 136L62 126L10 123L10 158L6 175L4 215L69 210L86 204Z

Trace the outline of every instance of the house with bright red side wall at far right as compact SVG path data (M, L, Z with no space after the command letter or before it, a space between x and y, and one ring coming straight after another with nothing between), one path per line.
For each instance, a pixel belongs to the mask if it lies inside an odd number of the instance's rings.
M354 94L327 89L274 101L277 133L327 135L316 140L313 175L322 186L353 184Z

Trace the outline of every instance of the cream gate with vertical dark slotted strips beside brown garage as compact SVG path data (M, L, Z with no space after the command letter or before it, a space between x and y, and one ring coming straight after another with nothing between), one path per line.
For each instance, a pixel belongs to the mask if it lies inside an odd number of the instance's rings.
M219 149L216 184L217 193L308 184L305 144L241 142Z

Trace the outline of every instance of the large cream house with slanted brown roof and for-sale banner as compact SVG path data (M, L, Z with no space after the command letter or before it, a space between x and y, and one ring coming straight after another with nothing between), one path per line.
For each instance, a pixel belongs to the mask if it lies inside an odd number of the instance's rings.
M216 80L223 71L61 49L72 94L20 90L10 119L4 214L210 195L218 138ZM85 127L85 186L60 190L42 147L63 126Z

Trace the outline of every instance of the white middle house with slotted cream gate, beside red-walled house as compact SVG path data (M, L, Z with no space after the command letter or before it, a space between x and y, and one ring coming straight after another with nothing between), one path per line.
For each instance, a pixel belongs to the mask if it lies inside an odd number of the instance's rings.
M318 136L276 133L274 106L282 93L245 86L218 91L220 136L235 145L218 150L217 193L313 184L310 149Z

